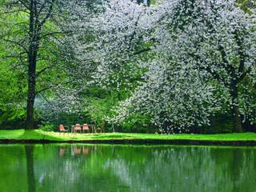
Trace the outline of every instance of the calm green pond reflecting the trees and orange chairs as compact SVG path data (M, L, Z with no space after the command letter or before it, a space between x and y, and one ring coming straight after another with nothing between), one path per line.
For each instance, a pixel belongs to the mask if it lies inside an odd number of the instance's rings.
M0 145L0 191L256 191L256 148Z

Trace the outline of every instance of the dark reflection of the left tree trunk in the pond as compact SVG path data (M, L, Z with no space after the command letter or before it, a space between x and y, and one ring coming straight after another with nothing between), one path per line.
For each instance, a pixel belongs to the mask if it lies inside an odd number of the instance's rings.
M28 192L35 191L35 178L34 178L34 146L25 146L26 150L26 177Z

